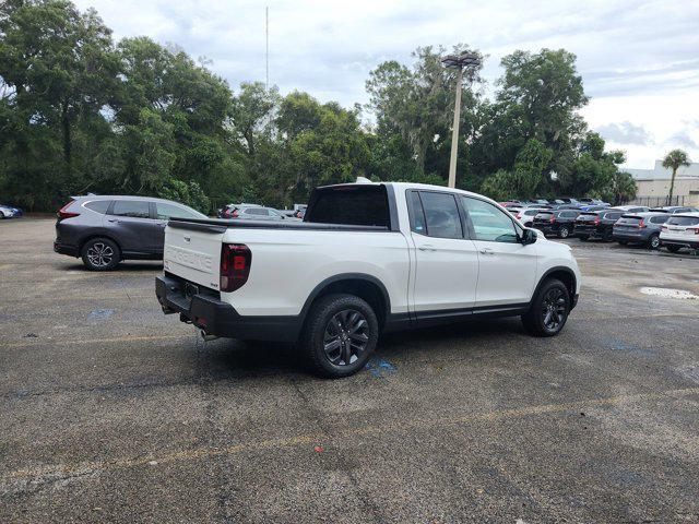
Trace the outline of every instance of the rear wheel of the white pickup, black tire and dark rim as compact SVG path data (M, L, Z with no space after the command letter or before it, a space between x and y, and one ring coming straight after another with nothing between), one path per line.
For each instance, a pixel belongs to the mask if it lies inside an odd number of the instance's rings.
M371 306L354 295L328 295L310 308L300 349L313 374L341 379L364 368L378 340L379 321Z

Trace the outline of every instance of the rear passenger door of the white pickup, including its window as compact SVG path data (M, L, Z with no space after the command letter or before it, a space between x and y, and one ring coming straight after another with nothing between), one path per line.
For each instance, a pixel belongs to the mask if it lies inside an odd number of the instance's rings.
M478 255L454 195L412 190L406 196L415 254L415 317L419 321L440 312L466 312L475 302Z

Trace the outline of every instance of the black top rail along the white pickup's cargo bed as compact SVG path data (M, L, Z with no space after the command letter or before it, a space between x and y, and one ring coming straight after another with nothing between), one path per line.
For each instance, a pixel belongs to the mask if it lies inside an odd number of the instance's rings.
M248 221L226 218L170 218L168 227L194 231L224 233L228 228L252 229L300 229L317 231L389 231L386 226L360 226L352 224L320 224L294 221Z

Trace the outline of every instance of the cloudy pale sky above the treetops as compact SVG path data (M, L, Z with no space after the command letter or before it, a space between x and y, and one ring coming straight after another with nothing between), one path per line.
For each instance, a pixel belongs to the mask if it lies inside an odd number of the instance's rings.
M484 52L486 96L503 56L565 48L591 97L582 115L627 167L651 168L674 147L699 162L699 0L73 1L95 8L116 40L146 35L205 58L234 90L265 80L269 7L270 84L344 106L368 102L369 72L411 63L418 46Z

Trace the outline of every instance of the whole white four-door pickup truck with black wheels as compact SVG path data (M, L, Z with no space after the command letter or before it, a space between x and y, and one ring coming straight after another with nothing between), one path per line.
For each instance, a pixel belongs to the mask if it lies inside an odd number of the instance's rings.
M298 342L330 378L388 331L521 315L555 335L580 289L570 248L491 200L398 182L318 188L304 222L173 218L164 267L165 313L205 337Z

